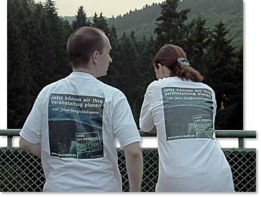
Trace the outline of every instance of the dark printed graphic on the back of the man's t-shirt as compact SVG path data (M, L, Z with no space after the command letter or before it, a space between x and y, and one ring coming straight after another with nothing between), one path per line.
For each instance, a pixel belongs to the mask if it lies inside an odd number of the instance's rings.
M59 158L103 158L104 98L51 94L48 105L50 154Z

